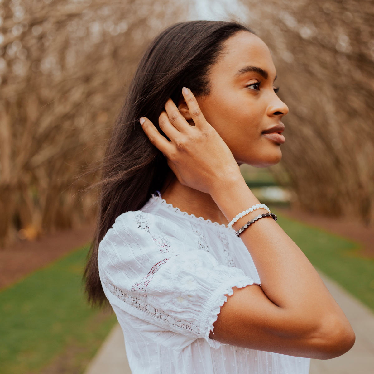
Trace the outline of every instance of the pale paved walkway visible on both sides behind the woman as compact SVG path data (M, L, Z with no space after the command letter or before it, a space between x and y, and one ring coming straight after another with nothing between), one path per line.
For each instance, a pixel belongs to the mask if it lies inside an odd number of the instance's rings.
M356 334L356 342L352 349L337 358L330 360L312 359L310 374L373 373L374 314L335 281L321 272L319 272L319 275L352 325ZM131 374L126 358L122 329L118 324L102 344L85 374Z

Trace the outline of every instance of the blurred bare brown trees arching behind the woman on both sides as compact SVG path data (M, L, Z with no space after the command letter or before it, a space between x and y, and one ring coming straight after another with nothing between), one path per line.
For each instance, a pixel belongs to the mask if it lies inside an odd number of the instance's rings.
M245 22L269 46L283 118L269 168L292 204L374 218L371 1L0 1L0 246L95 217L99 164L126 88L162 29L207 18ZM222 12L224 10L224 12Z

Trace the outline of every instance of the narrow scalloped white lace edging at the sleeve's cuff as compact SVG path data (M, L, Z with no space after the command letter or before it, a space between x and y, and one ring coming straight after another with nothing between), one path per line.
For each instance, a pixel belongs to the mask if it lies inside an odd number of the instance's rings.
M206 320L206 325L205 325L205 330L204 330L204 331L206 331L205 332L205 340L208 342L209 346L218 349L221 345L228 345L226 343L221 343L218 340L214 340L214 339L209 338L210 332L211 331L213 332L213 329L214 329L213 324L214 324L215 321L217 321L218 314L221 311L221 306L223 306L223 304L226 303L226 301L227 301L227 296L226 295L231 296L234 293L233 287L242 288L242 287L252 285L252 284L259 284L260 285L260 283L257 283L253 279L248 279L248 277L240 279L240 280L236 280L236 281L234 281L234 284L232 286L229 286L228 291L222 292L219 295L218 299L214 303L214 307L210 311L208 319ZM214 335L214 332L213 332L213 335Z

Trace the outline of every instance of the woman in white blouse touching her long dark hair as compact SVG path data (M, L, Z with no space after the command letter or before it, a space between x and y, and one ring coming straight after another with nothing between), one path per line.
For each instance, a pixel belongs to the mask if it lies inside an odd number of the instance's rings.
M288 107L275 78L266 44L236 22L174 24L140 61L85 270L132 373L304 374L310 358L353 346L343 311L240 174L281 160Z

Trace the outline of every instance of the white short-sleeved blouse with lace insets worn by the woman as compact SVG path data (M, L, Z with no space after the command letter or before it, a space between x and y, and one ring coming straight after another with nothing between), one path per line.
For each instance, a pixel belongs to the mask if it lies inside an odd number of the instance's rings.
M156 191L117 217L98 266L132 374L309 373L310 358L209 338L232 287L261 284L233 228L182 212Z

